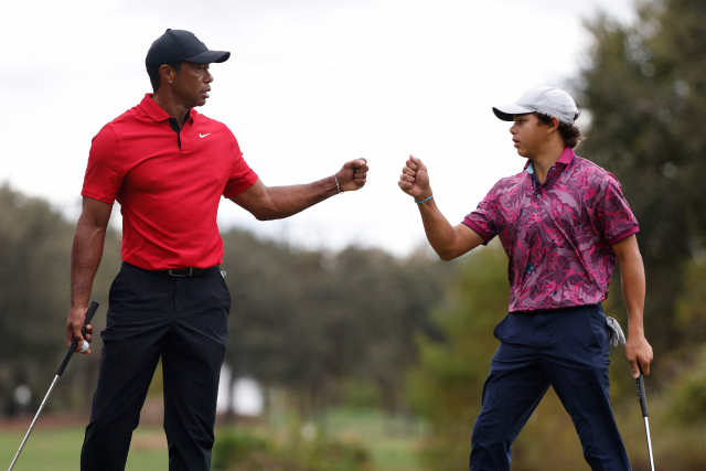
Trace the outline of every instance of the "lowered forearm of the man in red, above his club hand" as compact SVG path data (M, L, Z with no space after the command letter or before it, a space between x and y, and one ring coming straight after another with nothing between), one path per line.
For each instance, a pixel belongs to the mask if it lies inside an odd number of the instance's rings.
M83 220L83 218L82 218ZM106 229L79 220L71 251L71 307L88 306L93 280L98 271Z

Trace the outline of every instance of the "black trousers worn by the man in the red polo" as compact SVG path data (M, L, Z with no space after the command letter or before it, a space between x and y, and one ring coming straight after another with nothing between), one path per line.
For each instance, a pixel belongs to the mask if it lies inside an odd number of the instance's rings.
M171 277L124 263L110 287L82 471L122 471L162 358L170 471L211 468L231 295L218 267Z

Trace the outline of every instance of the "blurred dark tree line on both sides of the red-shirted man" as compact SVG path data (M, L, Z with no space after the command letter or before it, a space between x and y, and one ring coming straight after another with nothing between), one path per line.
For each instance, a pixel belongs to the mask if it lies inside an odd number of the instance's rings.
M0 414L20 384L33 409L63 357L75 223L47 202L0 186ZM414 338L428 320L449 265L425 254L397 259L375 249L302 251L232 229L223 234L233 309L227 358L236 374L287 386L306 414L336 400L399 407ZM108 231L93 299L93 355L74 360L49 404L86 410L95 389L108 290L120 265L120 235ZM353 390L355 385L359 390ZM372 388L371 388L372 386ZM374 389L374 390L373 390ZM365 396L365 397L363 397Z

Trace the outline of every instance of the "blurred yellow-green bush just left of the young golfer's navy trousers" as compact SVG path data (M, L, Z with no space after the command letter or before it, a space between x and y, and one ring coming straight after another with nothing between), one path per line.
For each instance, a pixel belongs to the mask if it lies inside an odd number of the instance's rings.
M448 304L435 311L447 340L419 339L420 362L409 377L413 409L431 426L425 449L428 469L459 469L468 462L472 426L483 382L498 346L494 327L507 312L507 256L493 242L467 256L449 285Z

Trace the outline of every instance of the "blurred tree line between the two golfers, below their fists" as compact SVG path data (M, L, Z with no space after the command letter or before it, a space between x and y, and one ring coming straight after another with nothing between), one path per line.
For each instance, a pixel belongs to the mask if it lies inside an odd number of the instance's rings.
M345 395L344 378L373 383L397 407L414 336L434 335L428 311L449 266L377 249L296 250L231 231L223 268L233 309L227 362L238 374L301 393L303 408Z

